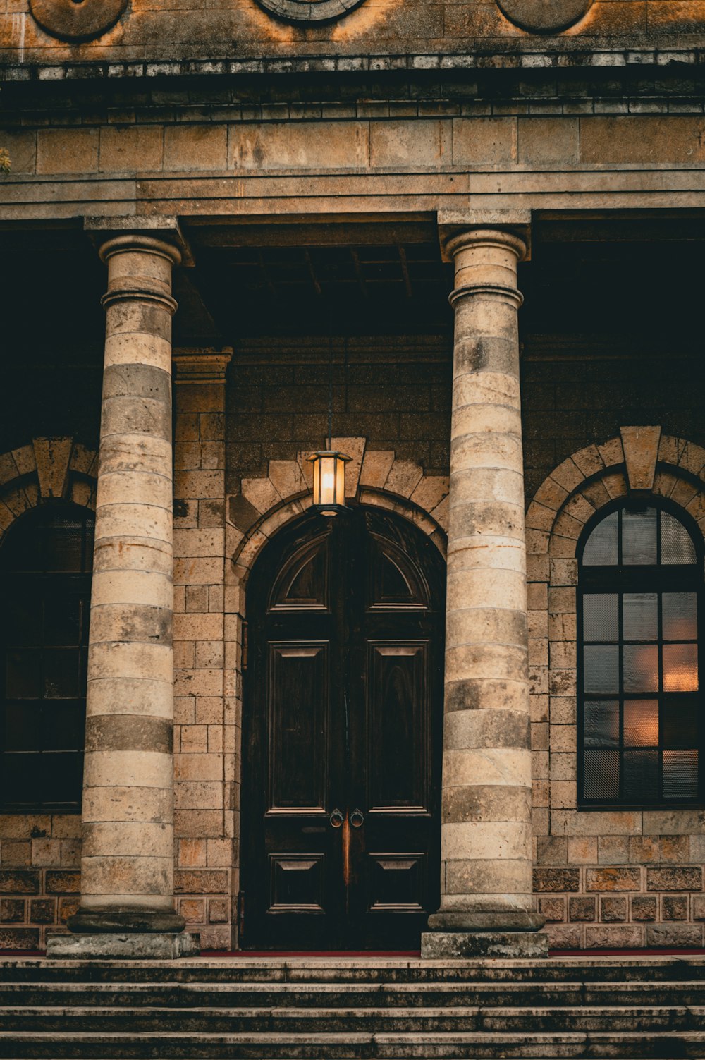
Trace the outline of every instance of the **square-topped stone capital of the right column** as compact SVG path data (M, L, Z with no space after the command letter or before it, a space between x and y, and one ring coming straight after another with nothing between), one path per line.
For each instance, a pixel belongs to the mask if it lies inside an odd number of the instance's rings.
M438 235L444 262L482 244L507 247L517 261L531 258L530 210L439 210Z

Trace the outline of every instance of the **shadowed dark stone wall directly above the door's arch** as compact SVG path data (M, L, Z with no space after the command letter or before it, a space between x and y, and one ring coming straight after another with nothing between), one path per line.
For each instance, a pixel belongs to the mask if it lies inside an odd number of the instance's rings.
M262 346L263 343L257 343ZM319 448L328 434L333 359L333 434L363 436L368 449L394 450L446 475L451 436L451 342L434 337L302 340L250 347L230 373L227 490L266 474L269 460Z

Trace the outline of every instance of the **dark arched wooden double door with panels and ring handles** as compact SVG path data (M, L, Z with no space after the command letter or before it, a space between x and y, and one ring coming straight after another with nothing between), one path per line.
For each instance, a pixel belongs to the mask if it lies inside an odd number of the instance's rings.
M439 902L445 569L391 513L309 514L248 585L247 949L417 949Z

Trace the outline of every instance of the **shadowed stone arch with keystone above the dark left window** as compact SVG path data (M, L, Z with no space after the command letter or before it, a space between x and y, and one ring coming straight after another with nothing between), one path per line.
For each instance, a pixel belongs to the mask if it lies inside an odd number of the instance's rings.
M70 500L95 508L98 454L70 437L34 438L0 454L0 542L30 508Z

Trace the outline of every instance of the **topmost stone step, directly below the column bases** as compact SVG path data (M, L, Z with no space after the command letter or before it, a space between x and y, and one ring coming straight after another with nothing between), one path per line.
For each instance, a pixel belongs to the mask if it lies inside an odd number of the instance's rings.
M0 983L657 983L705 980L705 957L561 957L526 960L420 958L186 958L47 961L4 958Z

